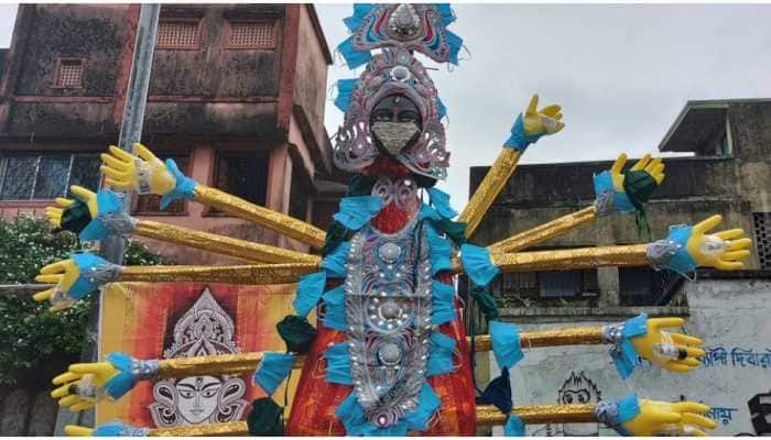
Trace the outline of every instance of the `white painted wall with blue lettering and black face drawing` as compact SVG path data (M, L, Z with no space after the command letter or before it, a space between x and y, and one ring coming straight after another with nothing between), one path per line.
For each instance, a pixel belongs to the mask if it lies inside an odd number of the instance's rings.
M771 424L771 282L757 279L704 279L685 285L691 317L685 327L689 334L705 340L709 349L704 364L688 374L675 374L643 361L632 376L622 381L610 361L607 345L568 346L557 349L525 350L524 360L511 372L514 405L558 403L557 395L565 381L575 374L577 384L568 386L566 393L578 399L597 393L602 399L615 399L637 391L641 397L661 400L703 402L713 407L712 417L718 421L713 435L735 436L756 432L750 420L748 400L758 394L769 394L768 406L761 411ZM601 326L605 322L554 322L551 324L524 324L517 322L522 331L546 328ZM726 351L725 358L717 354ZM741 352L743 350L743 352ZM741 355L741 353L754 353ZM734 353L734 355L731 355ZM492 358L491 376L499 372ZM729 408L721 411L716 408ZM762 417L762 415L761 415ZM595 433L594 424L583 426L529 426L528 433L545 436L568 431L574 435ZM600 433L612 433L605 428ZM767 435L771 435L767 432Z

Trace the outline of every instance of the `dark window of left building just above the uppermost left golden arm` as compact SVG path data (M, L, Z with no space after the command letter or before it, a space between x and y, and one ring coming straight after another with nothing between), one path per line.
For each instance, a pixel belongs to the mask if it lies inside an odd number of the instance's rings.
M268 154L253 151L219 152L215 161L214 186L264 206L268 193ZM209 212L217 211L210 209Z

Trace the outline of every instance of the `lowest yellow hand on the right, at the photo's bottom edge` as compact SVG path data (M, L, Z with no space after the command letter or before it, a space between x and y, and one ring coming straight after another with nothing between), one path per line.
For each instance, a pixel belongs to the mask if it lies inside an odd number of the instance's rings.
M675 427L687 429L693 436L704 433L699 428L714 429L717 424L703 417L709 407L695 402L667 402L640 399L640 414L623 424L623 427L634 436L655 436L672 431ZM695 432L698 431L698 432Z

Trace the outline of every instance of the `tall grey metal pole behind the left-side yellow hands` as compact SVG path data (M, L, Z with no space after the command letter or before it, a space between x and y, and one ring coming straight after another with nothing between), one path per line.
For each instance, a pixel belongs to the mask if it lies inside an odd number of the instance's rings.
M148 103L148 89L150 88L150 73L155 50L155 35L158 34L158 18L161 6L156 3L142 4L137 23L137 41L134 43L133 59L129 87L126 92L126 108L120 128L118 145L133 152L133 144L142 138L142 123L144 122L144 107ZM126 194L123 204L126 209L131 207L131 191ZM109 262L123 264L126 241L120 237L110 237L100 243L99 251ZM84 341L80 360L95 362L98 358L98 331L99 331L99 300L95 310L88 318L86 338ZM65 425L94 426L94 410L72 413L68 409L59 409L56 417L55 436L64 436Z

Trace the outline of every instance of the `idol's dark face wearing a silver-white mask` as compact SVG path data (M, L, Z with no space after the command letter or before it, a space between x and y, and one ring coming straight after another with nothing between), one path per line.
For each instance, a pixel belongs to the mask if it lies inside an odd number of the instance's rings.
M423 121L415 102L403 95L390 95L372 108L370 127L376 145L382 152L395 156L415 142Z

